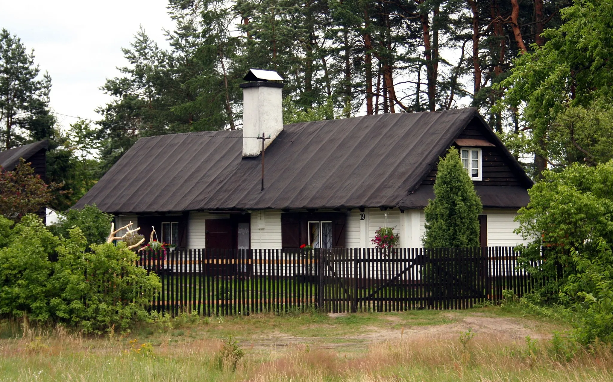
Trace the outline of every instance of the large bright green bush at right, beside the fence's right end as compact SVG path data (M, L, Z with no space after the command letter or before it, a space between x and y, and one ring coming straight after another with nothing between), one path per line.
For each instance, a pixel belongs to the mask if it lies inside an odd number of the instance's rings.
M536 280L527 297L572 310L582 345L613 342L613 161L545 172L528 192L516 231L531 239L520 258Z

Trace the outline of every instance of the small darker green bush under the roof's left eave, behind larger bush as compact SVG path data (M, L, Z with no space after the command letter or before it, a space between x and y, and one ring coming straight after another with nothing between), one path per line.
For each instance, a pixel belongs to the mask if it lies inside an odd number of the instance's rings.
M85 205L80 210L68 210L57 224L49 226L56 236L69 237L70 229L79 227L88 244L105 243L111 229L113 216L99 210L96 205Z

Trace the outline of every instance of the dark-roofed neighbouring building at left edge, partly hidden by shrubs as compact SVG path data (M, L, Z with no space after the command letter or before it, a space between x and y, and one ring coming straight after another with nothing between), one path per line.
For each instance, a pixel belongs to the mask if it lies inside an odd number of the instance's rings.
M10 148L9 150L0 151L0 167L2 170L12 171L19 164L19 159L23 158L34 169L34 175L39 175L43 181L47 181L47 148L49 147L48 140L40 140L39 142L29 143ZM38 212L40 218L44 218L45 224L53 224L59 220L61 216L53 208L45 208Z

